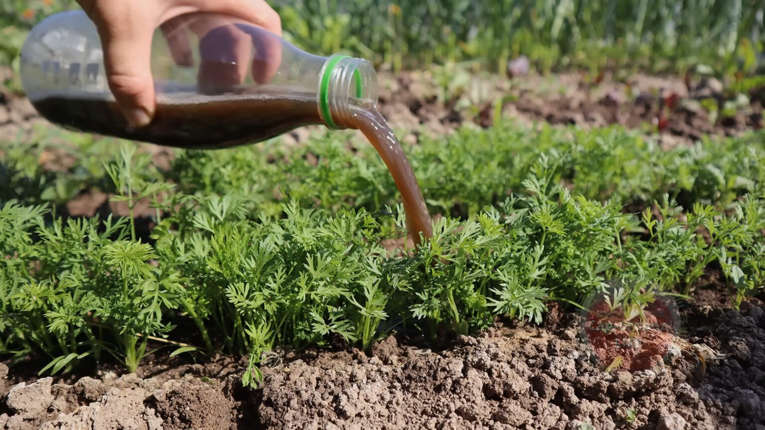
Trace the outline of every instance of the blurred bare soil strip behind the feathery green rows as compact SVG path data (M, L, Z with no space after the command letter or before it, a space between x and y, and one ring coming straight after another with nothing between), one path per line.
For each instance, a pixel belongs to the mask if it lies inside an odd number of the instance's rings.
M379 73L379 110L392 126L406 131L399 136L405 143L416 142L423 131L449 134L466 122L488 127L493 123L493 103L500 97L503 116L522 123L582 128L622 125L643 130L666 146L763 128L765 91L751 90L743 95L741 106L726 113L720 108L734 96L724 83L709 77L681 79L641 73L627 78L581 73L471 76L444 95L434 73ZM457 77L454 81L461 82ZM709 112L710 106L723 113ZM29 137L35 128L46 125L28 99L0 89L0 140ZM301 143L314 129L317 127L295 129L282 138L288 145Z

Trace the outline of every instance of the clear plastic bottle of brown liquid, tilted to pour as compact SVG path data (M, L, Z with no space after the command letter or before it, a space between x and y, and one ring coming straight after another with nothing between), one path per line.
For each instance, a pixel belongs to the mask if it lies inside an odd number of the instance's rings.
M353 110L377 103L368 61L309 54L223 15L183 15L158 28L151 73L154 119L132 128L109 90L99 34L83 11L41 21L21 50L24 90L50 122L158 145L223 148L304 125L355 128Z

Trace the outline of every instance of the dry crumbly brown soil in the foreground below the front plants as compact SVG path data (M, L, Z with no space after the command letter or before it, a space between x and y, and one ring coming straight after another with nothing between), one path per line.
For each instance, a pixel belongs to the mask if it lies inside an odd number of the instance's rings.
M241 366L214 363L71 385L11 386L3 375L0 428L763 430L765 308L743 308L688 314L685 339L721 353L705 369L681 351L648 370L605 372L580 317L563 314L555 327L500 324L438 351L389 337L369 355L284 353L259 389L241 386Z

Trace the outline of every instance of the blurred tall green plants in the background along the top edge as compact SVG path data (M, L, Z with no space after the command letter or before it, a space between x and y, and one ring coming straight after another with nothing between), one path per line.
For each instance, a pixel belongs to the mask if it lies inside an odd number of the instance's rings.
M763 5L747 0L289 0L273 6L298 46L349 52L396 70L477 60L503 72L507 60L525 54L542 71L616 62L610 65L650 70L706 63L730 73L741 68L739 57L762 50L765 31ZM0 50L12 58L24 29L73 7L71 0L0 5L7 29Z

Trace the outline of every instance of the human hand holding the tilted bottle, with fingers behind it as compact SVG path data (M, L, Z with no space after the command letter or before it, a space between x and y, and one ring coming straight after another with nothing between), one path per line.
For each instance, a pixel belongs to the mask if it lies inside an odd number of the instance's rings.
M216 15L228 15L256 24L281 36L282 22L265 0L77 0L96 24L103 45L109 89L128 121L147 125L155 112L151 77L151 40L161 28L177 64L190 65L187 30L200 36L200 86L241 82L251 64L252 77L269 80L278 67L281 45L275 37L253 37L246 26L231 24ZM181 16L184 15L184 16Z

